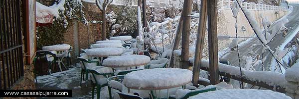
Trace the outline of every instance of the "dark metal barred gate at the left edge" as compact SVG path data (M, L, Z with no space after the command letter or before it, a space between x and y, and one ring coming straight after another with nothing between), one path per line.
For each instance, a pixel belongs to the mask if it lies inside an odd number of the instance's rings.
M24 75L20 0L0 0L0 90Z

